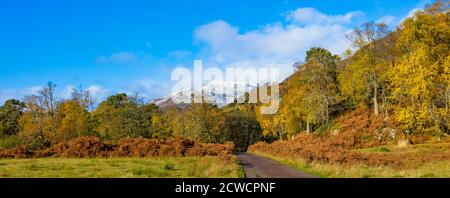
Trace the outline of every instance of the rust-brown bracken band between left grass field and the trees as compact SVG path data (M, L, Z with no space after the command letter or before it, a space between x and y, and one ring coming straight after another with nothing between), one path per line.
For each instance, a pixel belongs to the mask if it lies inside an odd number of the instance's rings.
M183 157L183 156L219 156L231 159L234 144L203 144L188 139L171 140L124 138L118 143L105 143L98 137L80 137L52 145L46 149L10 149L0 153L0 158L25 157ZM1 155L3 153L3 155ZM16 155L17 154L17 155ZM170 165L165 166L170 169Z

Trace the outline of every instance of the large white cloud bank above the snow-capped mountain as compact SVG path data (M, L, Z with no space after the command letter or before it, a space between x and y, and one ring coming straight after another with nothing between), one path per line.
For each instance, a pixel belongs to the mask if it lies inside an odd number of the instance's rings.
M218 20L198 27L196 43L203 45L202 57L206 66L266 67L278 66L281 76L292 73L292 65L303 61L311 47L324 47L334 54L342 54L350 47L346 35L353 23L364 13L348 12L326 15L313 8L299 8L290 12L283 22L240 32L239 28Z

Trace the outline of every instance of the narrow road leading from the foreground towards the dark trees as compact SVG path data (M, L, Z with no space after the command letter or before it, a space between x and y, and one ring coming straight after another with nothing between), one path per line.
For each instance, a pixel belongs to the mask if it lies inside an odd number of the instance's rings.
M316 178L255 154L240 153L237 157L247 178Z

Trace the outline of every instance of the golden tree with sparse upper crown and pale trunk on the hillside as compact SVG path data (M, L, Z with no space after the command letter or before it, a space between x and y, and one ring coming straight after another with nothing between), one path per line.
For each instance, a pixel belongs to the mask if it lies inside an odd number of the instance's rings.
M388 27L382 23L366 23L355 28L348 38L358 50L356 61L347 65L339 76L342 94L367 106L371 98L375 115L379 114L380 89L386 89L385 72L389 62L384 59L387 49L382 39L388 33Z

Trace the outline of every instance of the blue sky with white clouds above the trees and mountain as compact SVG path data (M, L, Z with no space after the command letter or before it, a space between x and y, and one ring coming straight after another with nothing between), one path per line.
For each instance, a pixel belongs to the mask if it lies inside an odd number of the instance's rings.
M367 21L391 26L420 0L108 0L0 2L0 102L48 81L58 96L82 86L170 93L170 74L192 67L293 63L313 46L341 53L345 33ZM289 69L286 69L286 75Z

